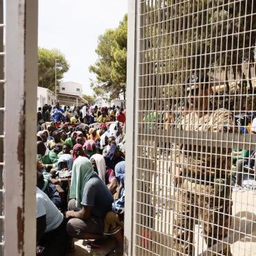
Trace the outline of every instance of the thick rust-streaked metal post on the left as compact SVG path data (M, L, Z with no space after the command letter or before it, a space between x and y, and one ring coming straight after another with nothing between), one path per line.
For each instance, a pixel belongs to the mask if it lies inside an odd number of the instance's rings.
M5 5L4 255L35 255L38 3Z

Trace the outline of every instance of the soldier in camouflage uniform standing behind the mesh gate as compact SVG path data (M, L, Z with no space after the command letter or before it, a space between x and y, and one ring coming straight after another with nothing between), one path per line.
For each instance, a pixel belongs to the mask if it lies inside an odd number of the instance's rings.
M213 110L209 104L212 88L209 77L193 74L186 88L190 109L177 127L185 131L228 131L233 125L229 110ZM194 225L200 219L207 247L228 235L231 223L231 156L229 149L183 145L175 156L179 165L174 203L173 255L194 255ZM218 255L231 255L230 246L221 244Z

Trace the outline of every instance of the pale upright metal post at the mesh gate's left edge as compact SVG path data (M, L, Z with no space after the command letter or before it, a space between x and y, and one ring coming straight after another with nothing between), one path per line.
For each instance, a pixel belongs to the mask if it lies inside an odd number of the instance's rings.
M126 129L126 138L127 138L127 149L126 149L126 170L127 175L125 177L125 189L129 191L125 198L125 255L133 255L134 251L134 225L133 218L135 216L134 209L136 205L134 203L134 170L136 168L136 161L134 159L134 154L136 153L136 73L137 65L137 50L136 50L136 40L137 40L137 31L136 31L136 8L137 1L129 1L128 8L128 42L127 42L127 129Z

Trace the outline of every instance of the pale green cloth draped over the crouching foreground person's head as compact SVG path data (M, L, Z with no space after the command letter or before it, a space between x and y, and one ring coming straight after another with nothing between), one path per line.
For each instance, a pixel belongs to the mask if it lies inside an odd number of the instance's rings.
M92 163L86 157L77 157L72 168L70 199L76 199L76 206L81 208L81 200L83 198L84 187L92 178L97 177L94 172Z

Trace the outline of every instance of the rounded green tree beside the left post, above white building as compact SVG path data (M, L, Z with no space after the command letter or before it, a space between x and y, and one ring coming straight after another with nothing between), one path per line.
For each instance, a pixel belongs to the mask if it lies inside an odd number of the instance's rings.
M57 84L69 69L65 56L57 49L38 48L38 86L55 90L55 60Z

